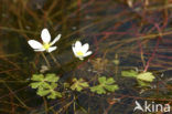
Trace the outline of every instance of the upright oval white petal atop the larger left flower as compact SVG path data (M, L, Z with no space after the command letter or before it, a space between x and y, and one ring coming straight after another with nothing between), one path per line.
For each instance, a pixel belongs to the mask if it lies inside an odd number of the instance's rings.
M43 29L41 33L41 39L44 43L49 43L51 41L51 35L47 29Z

